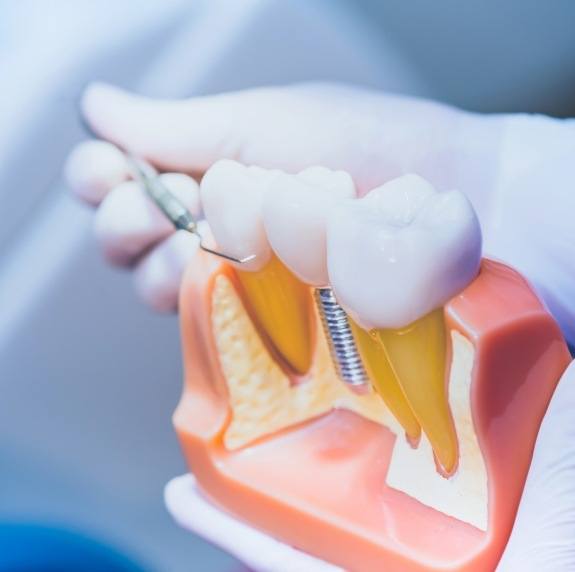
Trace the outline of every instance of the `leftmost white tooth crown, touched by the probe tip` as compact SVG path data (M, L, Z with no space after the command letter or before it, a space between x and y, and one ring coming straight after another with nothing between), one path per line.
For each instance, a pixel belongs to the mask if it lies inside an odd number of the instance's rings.
M205 174L200 194L206 220L220 250L236 258L255 255L241 267L259 270L271 248L262 220L262 203L277 171L221 160Z

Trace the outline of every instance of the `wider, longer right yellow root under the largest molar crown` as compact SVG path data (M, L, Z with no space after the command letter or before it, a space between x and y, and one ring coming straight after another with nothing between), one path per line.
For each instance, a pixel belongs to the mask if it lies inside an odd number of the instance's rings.
M429 439L440 468L457 466L457 435L445 385L447 341L443 309L405 328L376 330L415 417Z

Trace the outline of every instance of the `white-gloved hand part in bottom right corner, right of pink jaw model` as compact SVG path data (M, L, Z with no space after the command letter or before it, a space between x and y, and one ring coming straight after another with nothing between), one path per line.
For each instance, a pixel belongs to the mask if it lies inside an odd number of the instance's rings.
M575 570L575 362L563 374L537 437L500 571Z

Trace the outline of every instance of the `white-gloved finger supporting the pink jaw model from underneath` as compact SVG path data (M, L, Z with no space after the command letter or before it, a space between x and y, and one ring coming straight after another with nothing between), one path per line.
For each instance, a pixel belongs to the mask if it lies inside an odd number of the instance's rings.
M164 499L180 526L226 550L254 572L342 572L216 508L202 496L192 475L172 479Z

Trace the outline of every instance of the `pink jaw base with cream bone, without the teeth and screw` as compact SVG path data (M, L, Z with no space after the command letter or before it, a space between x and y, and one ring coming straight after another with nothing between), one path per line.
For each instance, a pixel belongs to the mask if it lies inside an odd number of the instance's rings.
M417 448L405 440L408 427L417 435L409 413L400 425L377 393L354 395L335 378L321 334L306 381L293 384L226 265L199 255L180 308L186 388L175 423L212 500L349 570L495 567L569 360L515 272L485 262L443 312L459 442L450 479L437 473L425 434Z

